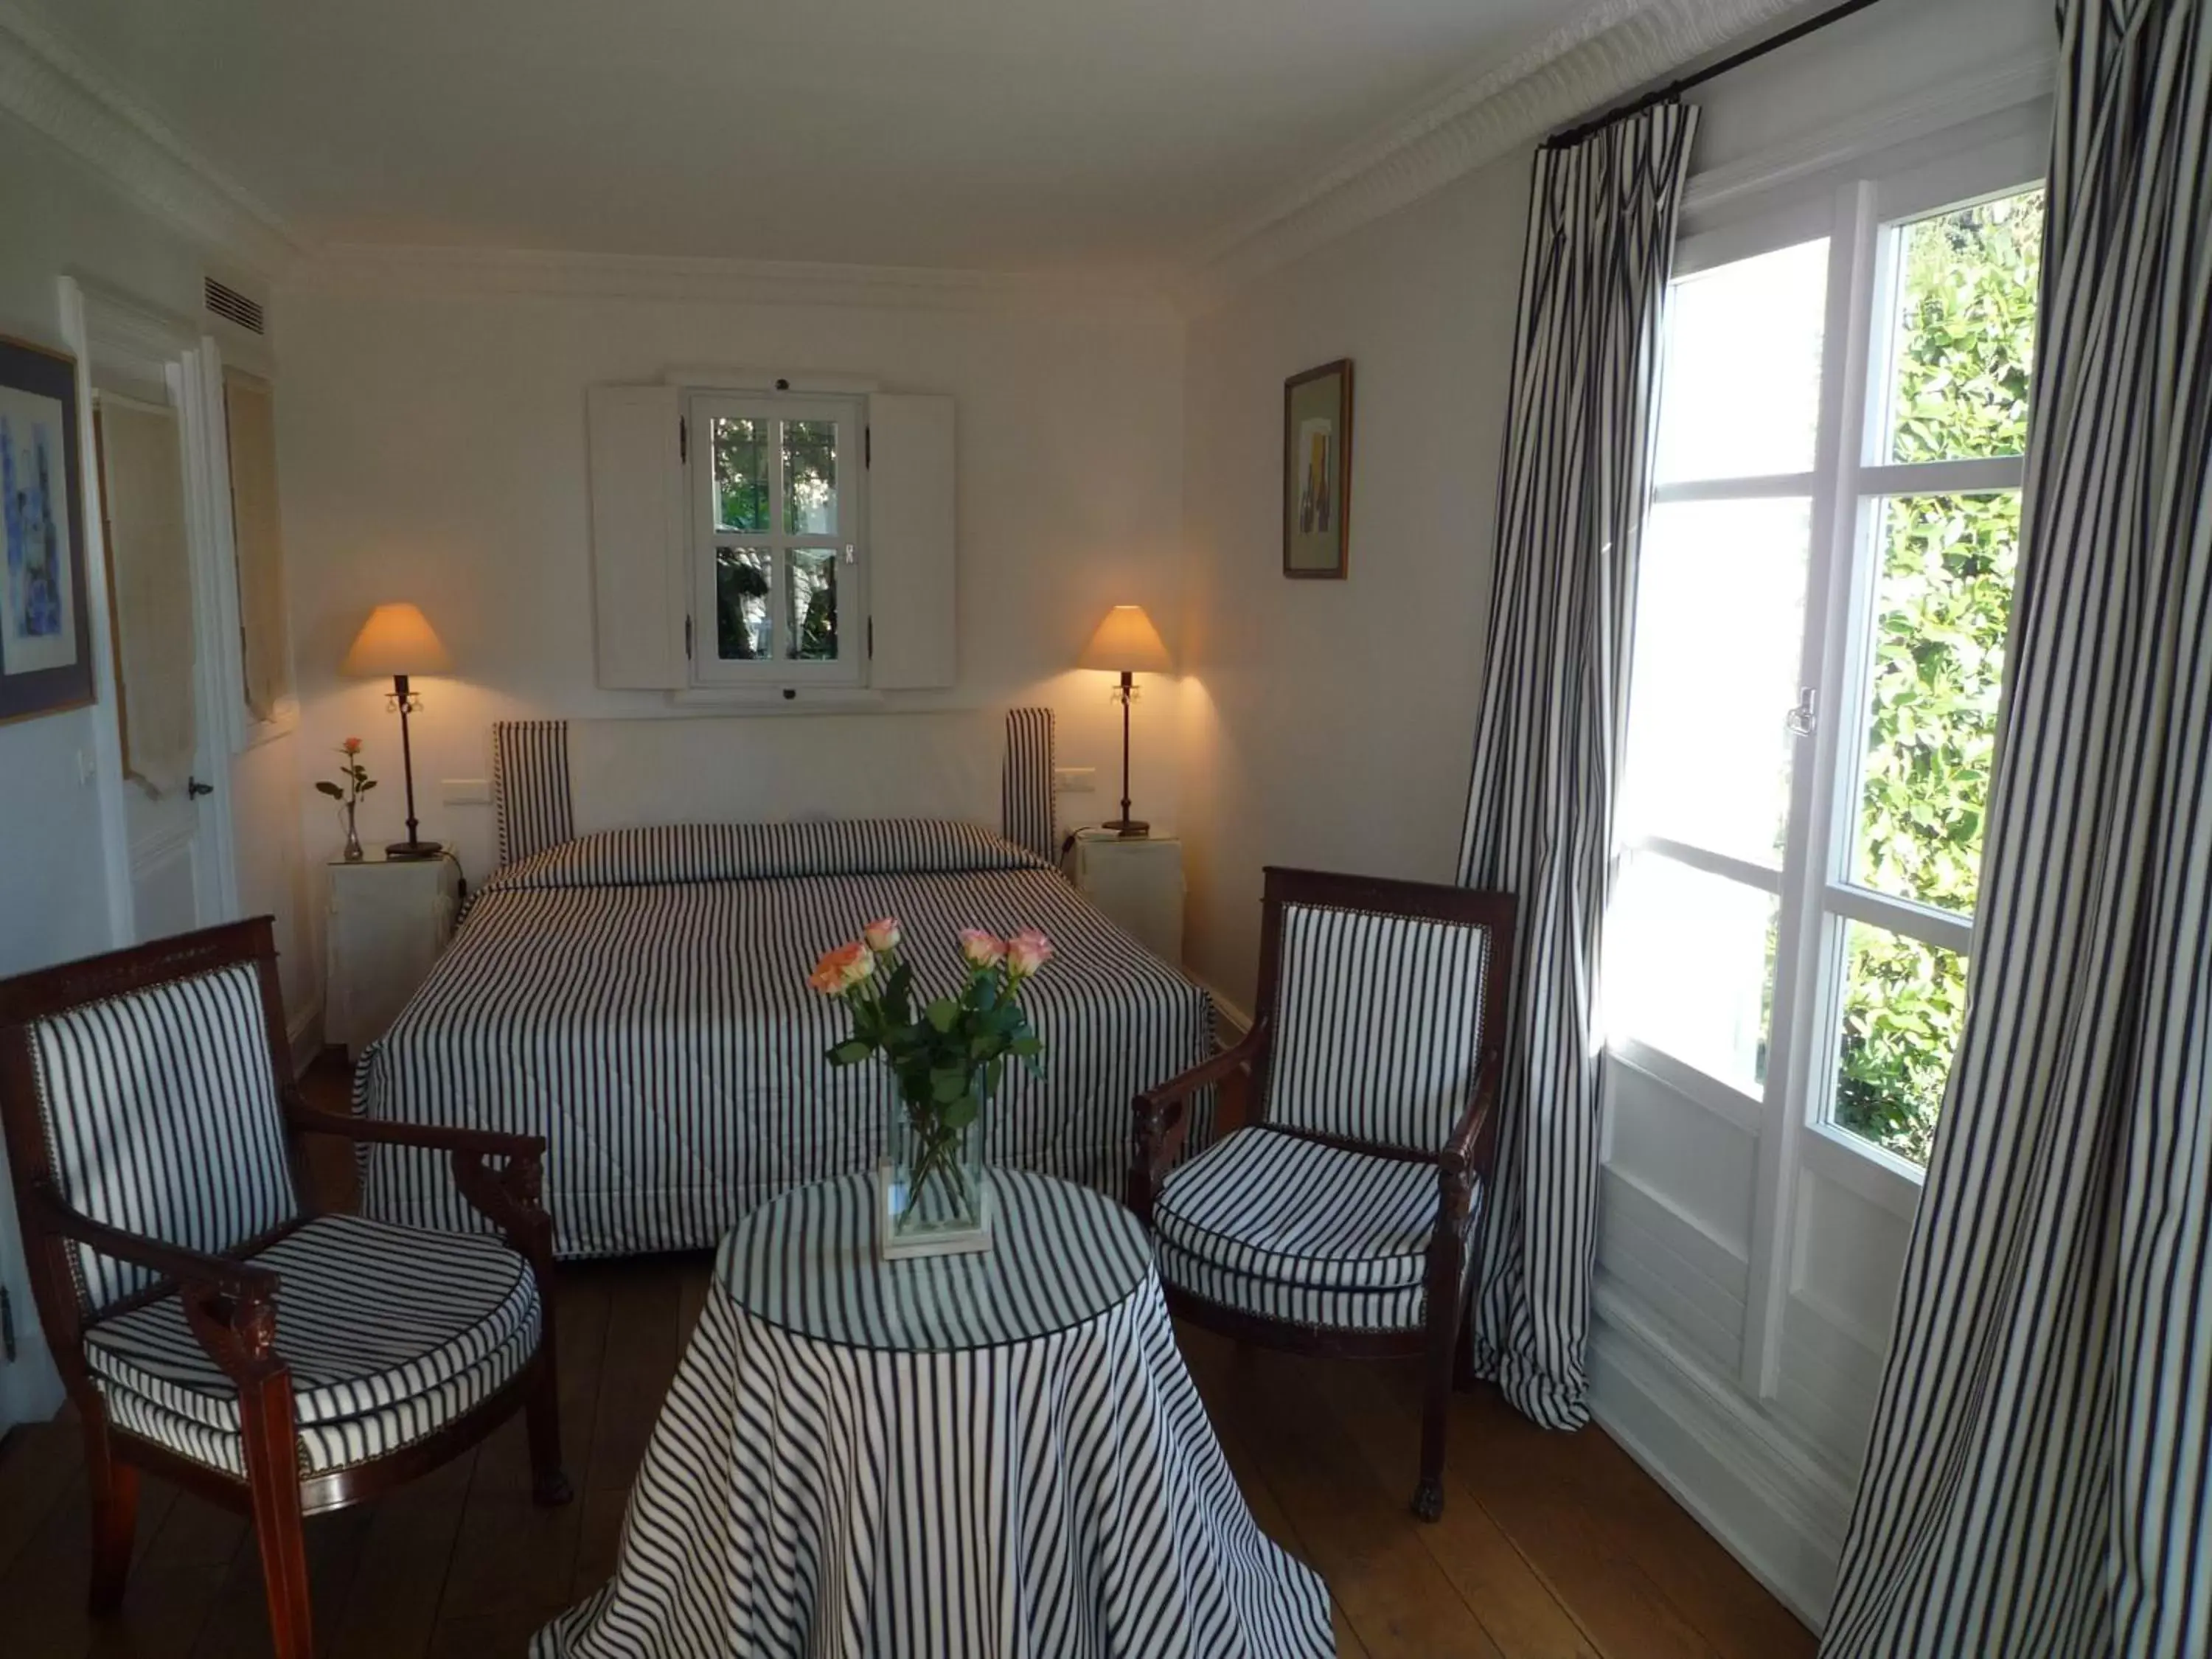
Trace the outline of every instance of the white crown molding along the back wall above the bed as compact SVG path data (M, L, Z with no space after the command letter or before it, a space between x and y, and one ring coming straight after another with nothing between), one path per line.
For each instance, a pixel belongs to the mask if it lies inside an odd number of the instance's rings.
M721 305L867 305L885 310L1106 314L1175 321L1161 279L1060 276L938 265L832 265L787 259L584 254L515 248L330 243L285 288L414 299L648 299Z

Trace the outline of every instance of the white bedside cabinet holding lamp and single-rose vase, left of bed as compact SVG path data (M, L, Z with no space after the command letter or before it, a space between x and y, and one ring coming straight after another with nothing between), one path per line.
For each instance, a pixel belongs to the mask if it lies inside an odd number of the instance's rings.
M323 1040L349 1057L385 1035L453 938L460 865L451 858L330 860L330 998Z

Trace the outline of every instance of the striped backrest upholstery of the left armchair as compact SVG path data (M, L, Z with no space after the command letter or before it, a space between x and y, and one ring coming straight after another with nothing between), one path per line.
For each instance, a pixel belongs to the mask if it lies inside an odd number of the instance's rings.
M29 1035L69 1208L212 1254L299 1214L250 962L88 1002ZM144 1267L69 1250L84 1312L155 1281Z

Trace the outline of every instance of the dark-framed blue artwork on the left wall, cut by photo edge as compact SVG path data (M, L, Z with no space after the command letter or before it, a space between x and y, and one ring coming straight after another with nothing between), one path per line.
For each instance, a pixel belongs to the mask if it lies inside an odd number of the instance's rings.
M75 358L0 336L0 721L93 701L82 484Z

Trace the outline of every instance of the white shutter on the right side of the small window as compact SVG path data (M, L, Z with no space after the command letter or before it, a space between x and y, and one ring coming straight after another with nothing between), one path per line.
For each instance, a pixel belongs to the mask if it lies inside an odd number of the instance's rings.
M867 684L951 686L960 657L953 542L953 400L867 400Z

